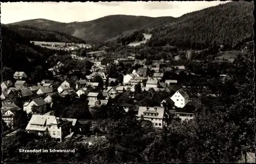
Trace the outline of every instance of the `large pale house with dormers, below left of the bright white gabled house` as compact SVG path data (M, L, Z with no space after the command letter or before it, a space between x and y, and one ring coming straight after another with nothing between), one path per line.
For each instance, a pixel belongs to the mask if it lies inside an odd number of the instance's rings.
M140 106L136 118L139 120L143 118L143 120L151 121L154 127L163 128L166 125L165 115L167 114L165 114L163 107Z

